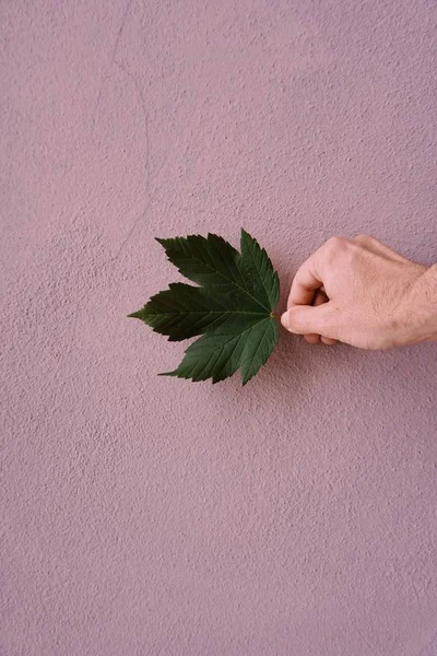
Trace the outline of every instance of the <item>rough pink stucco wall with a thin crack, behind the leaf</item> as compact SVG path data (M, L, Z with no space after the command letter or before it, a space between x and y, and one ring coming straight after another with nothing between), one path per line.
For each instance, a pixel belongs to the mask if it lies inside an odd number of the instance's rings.
M157 236L437 259L432 0L1 3L7 656L437 654L435 345L158 378Z

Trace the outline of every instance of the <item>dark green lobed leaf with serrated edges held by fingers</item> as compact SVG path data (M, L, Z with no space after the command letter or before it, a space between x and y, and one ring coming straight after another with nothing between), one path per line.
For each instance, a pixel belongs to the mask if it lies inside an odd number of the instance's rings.
M265 250L244 230L240 253L213 234L157 241L179 272L200 285L173 283L129 315L172 341L201 336L179 366L162 375L217 383L239 368L245 385L279 337L273 311L280 283Z

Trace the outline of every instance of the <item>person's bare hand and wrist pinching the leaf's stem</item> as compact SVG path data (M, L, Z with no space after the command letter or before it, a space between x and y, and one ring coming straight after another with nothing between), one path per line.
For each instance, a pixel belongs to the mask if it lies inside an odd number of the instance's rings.
M437 341L437 265L375 237L332 237L299 268L282 325L310 344L392 349Z

